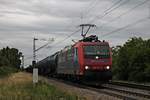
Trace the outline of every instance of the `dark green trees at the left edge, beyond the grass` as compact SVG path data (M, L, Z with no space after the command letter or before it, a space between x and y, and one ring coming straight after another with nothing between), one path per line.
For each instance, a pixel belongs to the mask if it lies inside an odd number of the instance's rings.
M9 75L20 69L20 57L22 53L15 48L3 48L0 50L0 77Z

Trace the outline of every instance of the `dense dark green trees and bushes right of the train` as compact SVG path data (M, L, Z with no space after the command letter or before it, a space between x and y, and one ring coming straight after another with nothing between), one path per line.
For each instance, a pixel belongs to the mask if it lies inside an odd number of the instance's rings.
M114 79L150 82L150 39L134 37L112 52Z

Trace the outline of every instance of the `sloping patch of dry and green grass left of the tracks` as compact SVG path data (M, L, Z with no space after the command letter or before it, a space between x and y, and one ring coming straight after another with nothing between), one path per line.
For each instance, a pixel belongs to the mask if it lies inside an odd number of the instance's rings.
M32 76L20 72L0 80L0 100L77 100L77 96L42 81L33 84Z

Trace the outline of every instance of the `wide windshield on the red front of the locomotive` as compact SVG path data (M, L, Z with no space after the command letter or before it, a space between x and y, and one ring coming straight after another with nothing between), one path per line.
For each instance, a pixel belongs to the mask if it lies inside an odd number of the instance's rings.
M109 46L108 45L88 45L84 46L84 56L85 58L109 58Z

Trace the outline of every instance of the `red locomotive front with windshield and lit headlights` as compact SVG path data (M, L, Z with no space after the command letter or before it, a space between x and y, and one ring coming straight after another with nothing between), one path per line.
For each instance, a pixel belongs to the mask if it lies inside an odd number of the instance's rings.
M88 80L108 81L112 78L112 56L107 42L85 43L83 45L84 77Z

